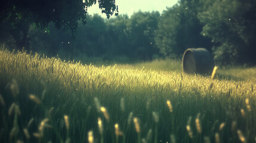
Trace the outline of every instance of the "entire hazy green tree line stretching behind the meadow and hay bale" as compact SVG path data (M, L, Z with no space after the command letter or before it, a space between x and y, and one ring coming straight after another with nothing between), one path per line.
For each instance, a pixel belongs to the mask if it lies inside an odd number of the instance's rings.
M47 29L30 24L29 49L69 58L152 60L180 58L187 48L206 48L218 64L256 64L256 1L180 0L162 14L138 11L108 20L87 15L87 24L82 23L78 21L75 38L54 23Z

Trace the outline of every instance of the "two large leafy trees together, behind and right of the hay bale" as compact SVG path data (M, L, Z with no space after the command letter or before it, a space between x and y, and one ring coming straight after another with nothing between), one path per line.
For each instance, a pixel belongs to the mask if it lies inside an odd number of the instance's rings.
M156 45L162 54L206 48L221 64L255 64L256 1L180 0L161 15Z

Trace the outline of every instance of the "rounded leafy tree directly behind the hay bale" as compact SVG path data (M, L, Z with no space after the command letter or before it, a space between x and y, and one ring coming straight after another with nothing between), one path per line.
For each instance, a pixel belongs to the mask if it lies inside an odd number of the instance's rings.
M175 58L187 48L211 49L210 39L201 35L203 25L197 17L202 6L199 0L181 0L162 13L155 38L162 54Z

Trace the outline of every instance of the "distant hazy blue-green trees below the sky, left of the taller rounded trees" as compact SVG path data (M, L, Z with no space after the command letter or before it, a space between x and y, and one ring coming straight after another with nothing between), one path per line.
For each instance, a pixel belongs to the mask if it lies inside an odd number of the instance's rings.
M73 39L70 33L55 29L49 30L30 27L30 49L59 55L69 60L88 62L88 57L101 57L111 61L126 57L134 60L152 60L158 54L154 42L154 32L158 24L158 12L134 13L104 20L100 15L87 15L87 24L78 24L78 33ZM48 33L48 31L50 31Z

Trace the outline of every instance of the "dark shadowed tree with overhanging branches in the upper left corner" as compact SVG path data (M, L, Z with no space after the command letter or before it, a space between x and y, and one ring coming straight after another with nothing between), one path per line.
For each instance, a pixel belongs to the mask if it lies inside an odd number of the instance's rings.
M21 33L21 38L17 39L22 40L27 38L27 29L31 24L45 29L51 22L55 27L70 30L75 35L78 20L85 24L87 8L96 2L107 18L115 12L118 14L115 0L10 0L0 2L0 26L10 25L14 33ZM24 43L20 46L24 46Z

